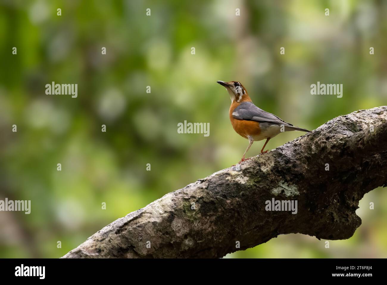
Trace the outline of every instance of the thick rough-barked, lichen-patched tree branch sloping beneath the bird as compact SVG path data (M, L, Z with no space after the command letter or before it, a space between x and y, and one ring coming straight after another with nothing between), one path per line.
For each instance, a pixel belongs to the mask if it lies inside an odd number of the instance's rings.
M336 117L271 152L168 193L64 257L223 257L287 233L346 239L361 225L355 213L359 200L386 183L382 106ZM265 201L272 198L297 200L297 214L266 211Z

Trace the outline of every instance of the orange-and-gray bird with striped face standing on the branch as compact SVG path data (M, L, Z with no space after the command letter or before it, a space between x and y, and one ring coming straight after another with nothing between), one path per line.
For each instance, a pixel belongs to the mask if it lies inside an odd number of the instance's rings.
M217 83L224 86L230 95L229 117L235 132L243 136L243 138L247 138L249 142L239 163L250 159L245 158L245 155L254 141L266 139L261 149L261 154L263 154L269 151L264 151L269 140L283 131L305 131L311 133L311 131L286 123L276 115L255 106L246 88L239 81L217 81Z

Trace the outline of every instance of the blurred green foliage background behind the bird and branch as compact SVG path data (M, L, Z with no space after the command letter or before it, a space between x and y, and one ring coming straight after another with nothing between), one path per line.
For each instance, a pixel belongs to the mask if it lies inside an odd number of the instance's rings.
M0 257L63 256L238 162L248 141L233 131L217 80L240 81L260 108L311 130L385 105L386 15L387 1L1 0L0 199L31 200L32 209L0 212ZM52 81L77 83L78 97L46 95ZM343 84L342 98L311 95L317 81ZM210 123L210 135L178 134L185 120ZM387 192L366 194L357 212L354 236L329 249L292 234L226 257L387 257Z

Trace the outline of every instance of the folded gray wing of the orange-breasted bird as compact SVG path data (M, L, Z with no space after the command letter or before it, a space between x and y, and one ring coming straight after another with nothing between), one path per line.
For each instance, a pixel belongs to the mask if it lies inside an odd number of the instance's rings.
M239 120L266 122L272 124L286 124L288 126L293 126L292 124L281 120L276 115L258 108L252 102L242 102L234 109L232 116Z

